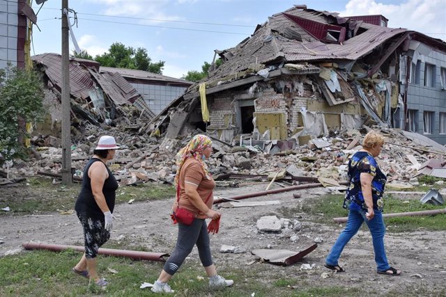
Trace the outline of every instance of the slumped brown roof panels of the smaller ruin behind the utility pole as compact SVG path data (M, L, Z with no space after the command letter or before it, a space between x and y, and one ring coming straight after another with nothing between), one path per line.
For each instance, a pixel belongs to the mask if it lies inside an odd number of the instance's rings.
M34 66L45 73L47 88L56 93L60 102L61 55L40 54L31 59ZM130 115L134 111L148 120L155 116L137 90L118 72L99 72L98 62L82 58L70 58L69 67L72 116L75 118L99 125L122 116L132 118Z

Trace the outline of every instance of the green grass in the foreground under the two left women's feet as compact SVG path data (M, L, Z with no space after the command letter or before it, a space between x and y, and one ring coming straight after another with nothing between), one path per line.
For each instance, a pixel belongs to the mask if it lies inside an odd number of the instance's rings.
M73 250L33 250L0 258L0 296L153 296L149 288L139 289L139 286L143 282L154 282L157 279L162 270L162 262L98 256L98 271L102 278L109 280L106 291L100 291L89 288L88 280L70 271L81 255ZM259 269L219 269L220 274L233 279L235 284L221 291L211 291L199 259L187 259L170 285L176 291L176 296L245 297L252 292L255 292L256 297L323 296L324 291L329 291L316 283L310 284L306 289L273 286L273 283L280 283L277 280L280 276L271 273L271 269L269 264L259 264ZM300 278L299 275L293 275L290 283L299 283ZM308 294L302 295L301 291Z

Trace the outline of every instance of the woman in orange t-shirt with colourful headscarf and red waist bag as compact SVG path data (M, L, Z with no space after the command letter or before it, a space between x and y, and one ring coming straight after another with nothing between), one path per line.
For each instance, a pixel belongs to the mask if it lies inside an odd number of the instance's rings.
M178 223L178 238L176 247L167 259L158 280L153 284L155 293L173 293L167 284L171 277L178 271L192 248L197 245L201 264L203 264L209 278L209 286L213 289L228 287L233 280L225 280L217 274L210 254L210 241L206 218L211 218L210 224L218 224L220 212L212 209L213 189L215 182L208 172L208 166L204 163L212 154L212 141L205 135L194 136L178 154L176 154L175 184L178 185L178 202L174 204L174 211L180 207L187 209L195 215L192 225ZM215 229L212 230L215 232Z

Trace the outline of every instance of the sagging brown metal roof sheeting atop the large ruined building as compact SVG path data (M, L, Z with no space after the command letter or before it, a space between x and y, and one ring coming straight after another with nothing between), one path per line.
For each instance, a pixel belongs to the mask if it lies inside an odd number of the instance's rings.
M407 29L391 29L362 21L349 20L339 17L337 13L325 11L290 8L284 13L277 13L269 17L268 22L257 28L250 38L236 47L220 51L221 55L231 52L232 56L212 72L209 79L218 79L234 72L242 72L256 64L277 65L280 62L302 63L327 60L355 61L371 53L387 40L397 39L406 32L413 32ZM325 43L293 22L293 17L290 19L290 16L328 26L349 26L348 28L352 28L351 25L355 25L353 27L359 27L360 31L358 32L360 33L344 42ZM348 24L346 24L347 22Z

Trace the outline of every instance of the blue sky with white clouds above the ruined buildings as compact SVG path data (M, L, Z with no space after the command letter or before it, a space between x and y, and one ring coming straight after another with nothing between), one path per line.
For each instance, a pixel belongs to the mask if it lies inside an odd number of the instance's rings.
M114 42L147 50L153 62L164 61L162 74L180 78L211 63L214 50L235 47L268 17L306 4L307 8L351 15L383 15L392 28L406 28L446 40L445 0L69 0L79 48L104 54ZM31 55L61 53L61 1L33 1L38 28ZM40 8L40 10L39 10ZM70 13L73 17L75 14ZM75 49L70 39L70 52Z

